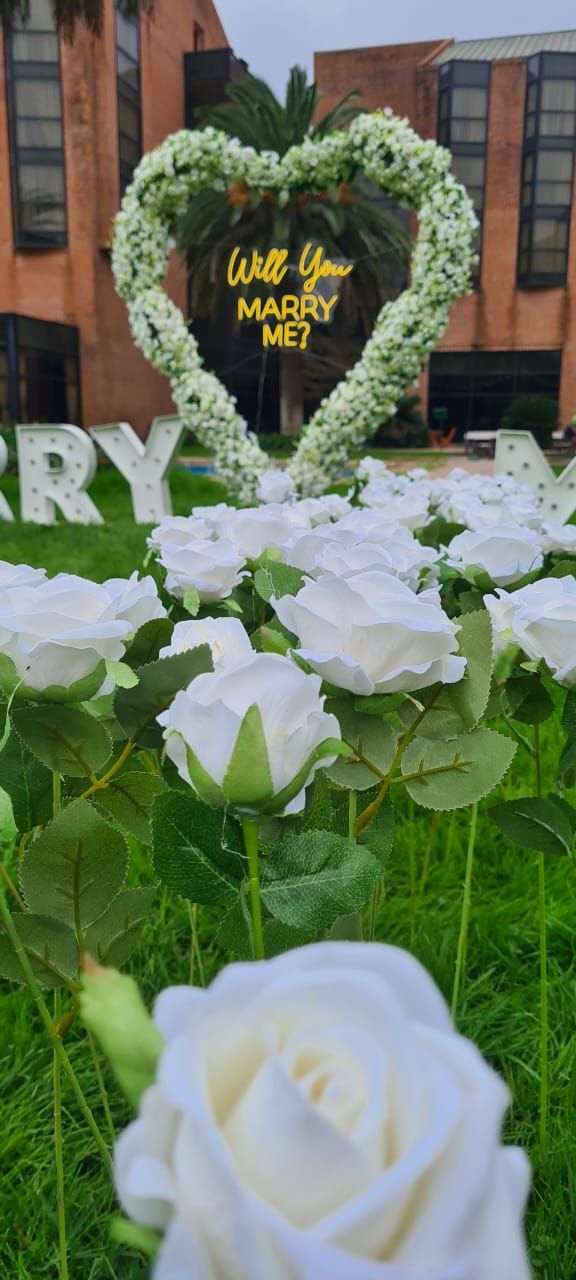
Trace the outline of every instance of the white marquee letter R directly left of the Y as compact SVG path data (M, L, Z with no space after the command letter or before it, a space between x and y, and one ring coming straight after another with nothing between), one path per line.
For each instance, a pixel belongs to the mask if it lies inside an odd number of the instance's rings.
M97 507L84 493L97 467L90 435L70 422L27 422L15 430L20 518L54 525L58 507L72 524L101 525Z

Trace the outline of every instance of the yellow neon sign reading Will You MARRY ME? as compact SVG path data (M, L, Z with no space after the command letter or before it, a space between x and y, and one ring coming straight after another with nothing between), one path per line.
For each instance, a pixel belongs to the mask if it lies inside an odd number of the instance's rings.
M266 255L252 250L251 255L243 255L241 247L237 246L228 262L228 284L232 289L237 289L260 282L278 288L285 279L288 270L287 248L271 248ZM250 301L239 297L237 301L238 320L251 320L262 325L264 347L300 347L303 351L308 343L311 321L328 323L338 305L337 292L324 297L319 289L321 282L340 279L349 275L352 270L352 262L344 266L332 262L324 248L316 247L308 241L297 265L302 292L280 292L278 297L266 293L265 297Z

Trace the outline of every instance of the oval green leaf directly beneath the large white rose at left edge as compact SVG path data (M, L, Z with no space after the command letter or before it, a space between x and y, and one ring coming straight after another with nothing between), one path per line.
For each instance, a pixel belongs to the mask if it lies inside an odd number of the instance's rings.
M108 730L76 707L22 707L12 712L12 723L29 750L55 773L90 778L110 759Z

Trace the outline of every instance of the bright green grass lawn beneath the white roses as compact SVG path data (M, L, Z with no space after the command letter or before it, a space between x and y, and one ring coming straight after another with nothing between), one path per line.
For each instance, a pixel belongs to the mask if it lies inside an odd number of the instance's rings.
M4 480L1 488L15 508L15 483ZM44 564L51 572L74 570L95 579L128 575L142 561L147 530L132 524L128 490L118 475L100 475L92 493L109 521L104 527L59 525L46 530L3 524L0 557ZM175 512L187 512L193 503L215 502L223 495L221 488L211 480L180 471L174 475ZM545 790L553 785L558 750L549 724L543 727L543 742ZM511 1088L513 1101L507 1139L520 1142L534 1165L527 1226L536 1280L571 1280L576 1275L575 867L568 858L550 858L547 864L550 1129L548 1151L540 1152L538 855L507 844L486 817L486 808L500 795L511 799L526 794L531 786L526 758L518 755L503 787L481 805L467 980L458 1025L506 1076ZM468 815L456 813L435 818L412 806L406 796L399 808L397 845L387 872L378 936L412 950L449 998ZM1 810L0 841L14 870L17 855L6 813L3 822ZM147 850L134 842L132 850L131 882L154 882ZM201 942L209 977L227 959L214 943L214 922L209 910L201 911ZM156 910L129 969L138 977L148 1001L161 987L188 980L189 924L182 901L159 892ZM4 1085L0 1280L58 1280L51 1047L27 993L9 984L0 987ZM79 1027L73 1027L67 1047L105 1133L105 1116ZM114 1123L122 1129L129 1111L108 1069L104 1071ZM145 1280L143 1260L110 1242L109 1225L115 1206L109 1174L65 1082L64 1108L70 1280Z

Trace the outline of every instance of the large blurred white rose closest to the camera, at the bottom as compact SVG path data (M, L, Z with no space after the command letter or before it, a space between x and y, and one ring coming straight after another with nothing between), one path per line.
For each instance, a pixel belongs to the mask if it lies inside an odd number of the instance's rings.
M529 1280L509 1097L397 947L321 942L156 1001L115 1149L155 1280Z

